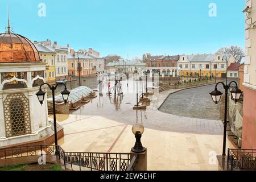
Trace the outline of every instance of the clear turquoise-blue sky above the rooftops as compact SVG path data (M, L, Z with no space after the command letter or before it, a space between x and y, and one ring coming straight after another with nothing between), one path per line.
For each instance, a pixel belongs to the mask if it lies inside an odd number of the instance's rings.
M46 16L38 16L38 4ZM217 16L209 16L209 4ZM232 44L244 47L245 0L1 0L0 32L10 6L14 32L50 39L72 48L92 47L102 56L213 53Z

